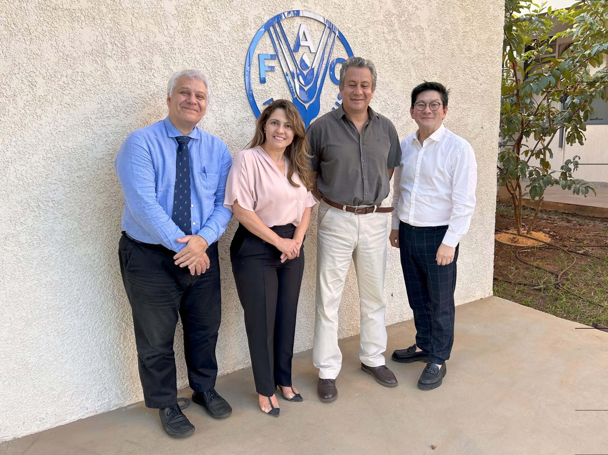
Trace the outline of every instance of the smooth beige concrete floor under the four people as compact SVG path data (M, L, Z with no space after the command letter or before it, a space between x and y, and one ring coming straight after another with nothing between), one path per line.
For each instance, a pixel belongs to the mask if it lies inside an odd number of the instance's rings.
M452 359L443 385L421 391L424 364L395 363L413 343L413 321L388 327L385 388L359 369L358 337L344 353L336 402L316 396L311 351L294 358L305 401L279 398L281 416L264 416L249 368L218 379L232 416L215 420L192 403L196 432L166 436L143 403L0 444L2 455L84 454L608 454L608 333L490 297L458 306ZM190 389L180 396L189 397ZM432 450L431 445L436 449Z

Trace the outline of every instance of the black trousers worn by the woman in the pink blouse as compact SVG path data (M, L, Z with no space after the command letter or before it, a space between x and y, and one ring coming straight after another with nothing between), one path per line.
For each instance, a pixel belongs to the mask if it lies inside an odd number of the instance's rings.
M291 239L295 226L274 226L278 236ZM255 390L270 397L275 386L291 386L295 315L304 272L304 248L299 258L280 261L281 252L239 225L230 260L254 371Z

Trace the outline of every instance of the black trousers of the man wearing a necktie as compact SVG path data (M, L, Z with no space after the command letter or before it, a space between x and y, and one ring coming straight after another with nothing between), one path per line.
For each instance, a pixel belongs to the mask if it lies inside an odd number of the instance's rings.
M221 319L217 242L209 245L210 267L190 275L174 264L174 251L144 244L124 233L119 242L120 273L133 310L139 377L148 408L177 403L173 337L178 314L184 327L188 381L194 391L215 386L215 345Z

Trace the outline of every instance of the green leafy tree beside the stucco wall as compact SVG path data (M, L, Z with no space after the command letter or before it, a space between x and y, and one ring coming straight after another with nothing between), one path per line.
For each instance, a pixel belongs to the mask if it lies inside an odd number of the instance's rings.
M593 99L608 98L608 67L601 67L608 54L607 29L608 1L578 1L562 10L547 8L546 2L505 1L497 178L511 196L518 234L525 190L536 201L528 234L548 186L585 197L589 191L595 194L592 183L573 177L578 156L559 170L551 169L548 159L561 128L568 145L583 144ZM560 36L572 45L558 55L553 50ZM529 180L525 188L522 180Z

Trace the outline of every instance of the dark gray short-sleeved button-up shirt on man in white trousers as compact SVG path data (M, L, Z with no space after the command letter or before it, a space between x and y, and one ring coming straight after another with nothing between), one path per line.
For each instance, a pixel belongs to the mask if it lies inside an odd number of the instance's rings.
M368 109L369 118L357 131L342 106L308 127L311 169L317 189L342 205L377 205L389 196L387 169L399 166L401 147L395 125Z

